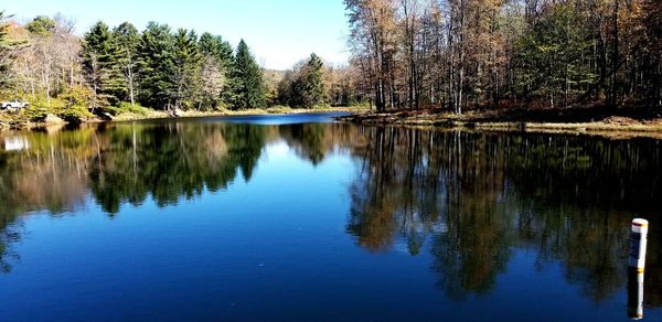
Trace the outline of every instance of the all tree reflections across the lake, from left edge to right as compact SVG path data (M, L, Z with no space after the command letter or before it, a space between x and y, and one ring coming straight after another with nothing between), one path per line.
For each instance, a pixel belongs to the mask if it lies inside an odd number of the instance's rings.
M493 290L515 249L535 269L563 264L595 299L626 282L629 222L659 224L660 142L584 136L431 131L346 124L116 124L26 135L30 149L0 150L0 262L9 271L20 216L75 211L92 193L114 215L125 204L177 204L249 181L264 147L282 140L319 164L354 160L346 232L370 251L395 243L430 251L453 299ZM651 230L647 303L662 305L660 230Z

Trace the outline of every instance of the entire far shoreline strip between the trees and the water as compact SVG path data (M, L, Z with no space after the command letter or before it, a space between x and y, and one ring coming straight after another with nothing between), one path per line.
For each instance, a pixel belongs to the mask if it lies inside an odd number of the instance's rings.
M480 111L469 111L463 115L452 112L437 112L430 110L423 111L386 111L375 112L363 107L332 107L320 109L305 108L285 108L273 107L266 109L244 109L244 110L216 110L181 111L172 116L166 111L149 110L148 114L124 112L109 120L100 118L90 118L79 122L67 122L56 116L50 115L43 121L23 121L20 124L10 124L0 119L0 132L39 130L44 128L64 128L72 124L102 124L102 122L126 122L150 119L186 119L202 117L224 117L224 116L257 116L257 115L292 115L292 114L320 114L320 112L351 112L349 116L338 117L338 120L349 121L359 125L373 126L401 126L408 128L427 129L461 129L492 132L531 132L531 133L557 133L557 135L589 135L609 138L653 138L662 139L662 118L633 119L623 116L607 116L598 120L590 121L557 121L557 120L531 120L513 119L511 116L504 116L500 112L488 114Z

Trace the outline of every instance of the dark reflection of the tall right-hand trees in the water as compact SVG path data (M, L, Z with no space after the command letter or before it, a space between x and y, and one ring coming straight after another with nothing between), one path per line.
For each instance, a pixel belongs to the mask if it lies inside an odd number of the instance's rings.
M654 140L388 127L364 135L348 232L371 251L403 238L416 255L429 240L451 298L490 291L512 250L532 248L536 269L560 261L568 281L605 299L624 283L631 217L660 216ZM649 267L660 267L659 239ZM647 283L647 302L659 305L655 286Z

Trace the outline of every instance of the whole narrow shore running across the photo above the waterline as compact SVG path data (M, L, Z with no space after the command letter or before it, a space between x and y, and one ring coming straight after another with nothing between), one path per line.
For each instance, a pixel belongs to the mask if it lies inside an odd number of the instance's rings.
M376 112L364 107L289 108L178 111L175 116L162 110L148 109L143 114L124 112L108 119L87 118L73 124L105 121L132 121L164 118L191 118L211 116L288 115L312 112L351 112L338 119L361 125L406 126L416 128L470 129L483 131L524 131L541 133L596 135L611 138L648 137L662 139L662 116L656 111L575 108L566 110L472 110L457 115L439 110L396 110ZM30 130L45 127L65 126L62 118L49 115L39 121L8 118L0 114L0 131Z

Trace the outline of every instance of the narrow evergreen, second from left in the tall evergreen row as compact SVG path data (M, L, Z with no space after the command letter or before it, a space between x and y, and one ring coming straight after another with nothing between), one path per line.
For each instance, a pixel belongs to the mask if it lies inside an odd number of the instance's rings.
M124 84L118 87L117 95L121 100L136 104L136 79L138 77L138 45L140 34L136 26L124 22L113 30L113 36L117 44L117 64L124 76Z

